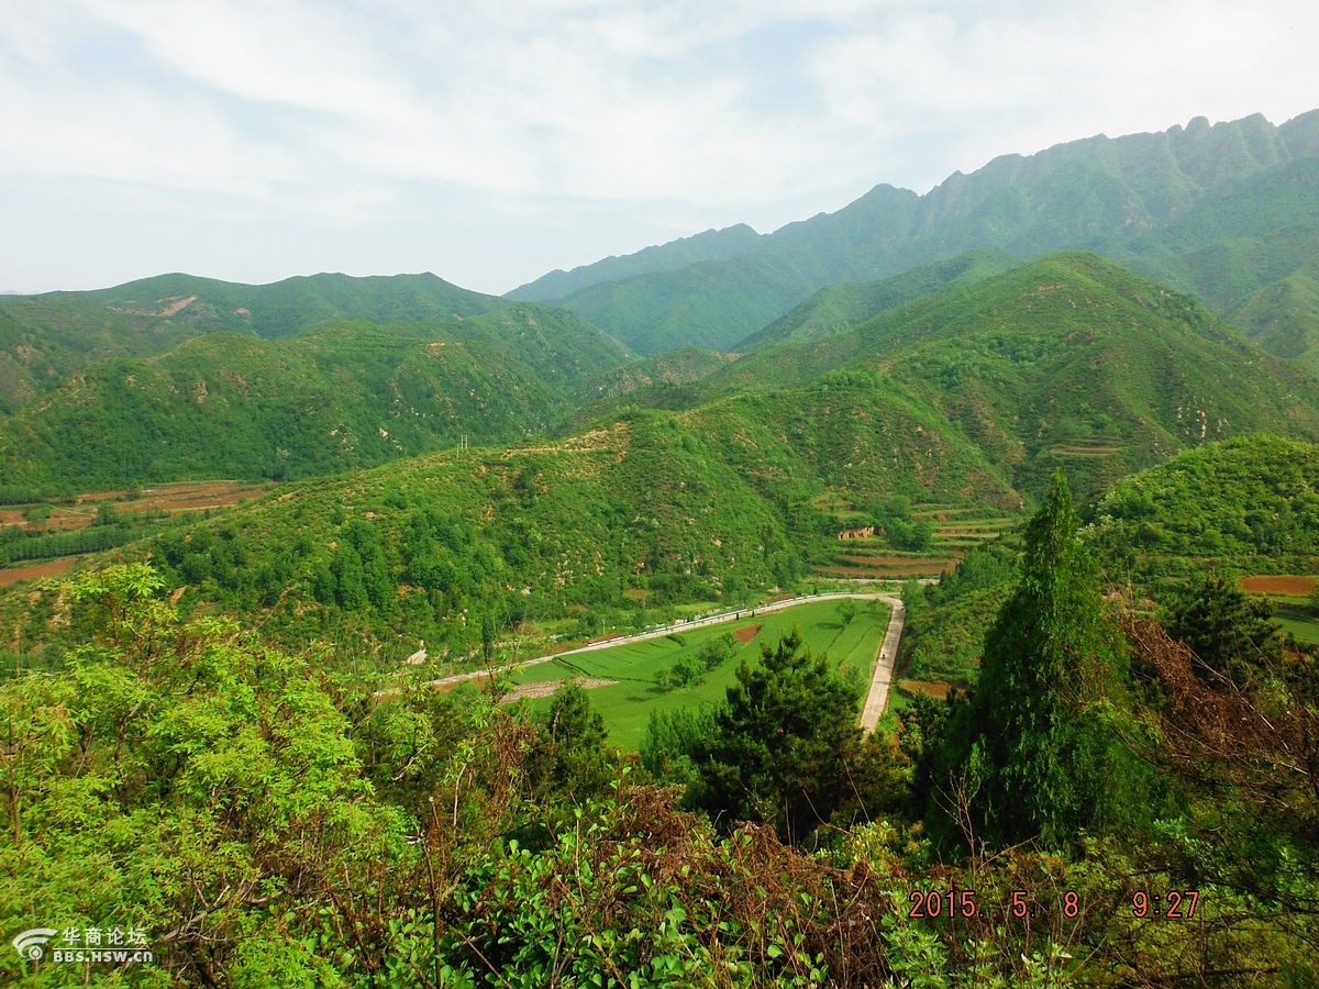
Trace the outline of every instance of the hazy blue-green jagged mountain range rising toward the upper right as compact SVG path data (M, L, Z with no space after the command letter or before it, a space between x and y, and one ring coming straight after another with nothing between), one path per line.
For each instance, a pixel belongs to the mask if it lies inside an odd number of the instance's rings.
M1319 111L1281 127L1260 115L1215 125L1198 117L1162 133L1004 156L923 196L880 185L773 233L710 231L550 273L509 298L567 306L642 353L736 349L828 285L976 248L1021 260L1082 248L1198 294L1219 315L1244 314L1244 330L1295 357L1314 347L1319 320L1316 156ZM1270 331L1279 309L1299 316L1295 339Z

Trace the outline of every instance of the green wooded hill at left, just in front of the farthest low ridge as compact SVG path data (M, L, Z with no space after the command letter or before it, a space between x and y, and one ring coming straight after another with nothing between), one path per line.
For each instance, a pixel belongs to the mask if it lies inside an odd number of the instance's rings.
M74 375L0 422L11 484L302 477L554 427L621 348L563 310L352 323L290 340L207 334Z

